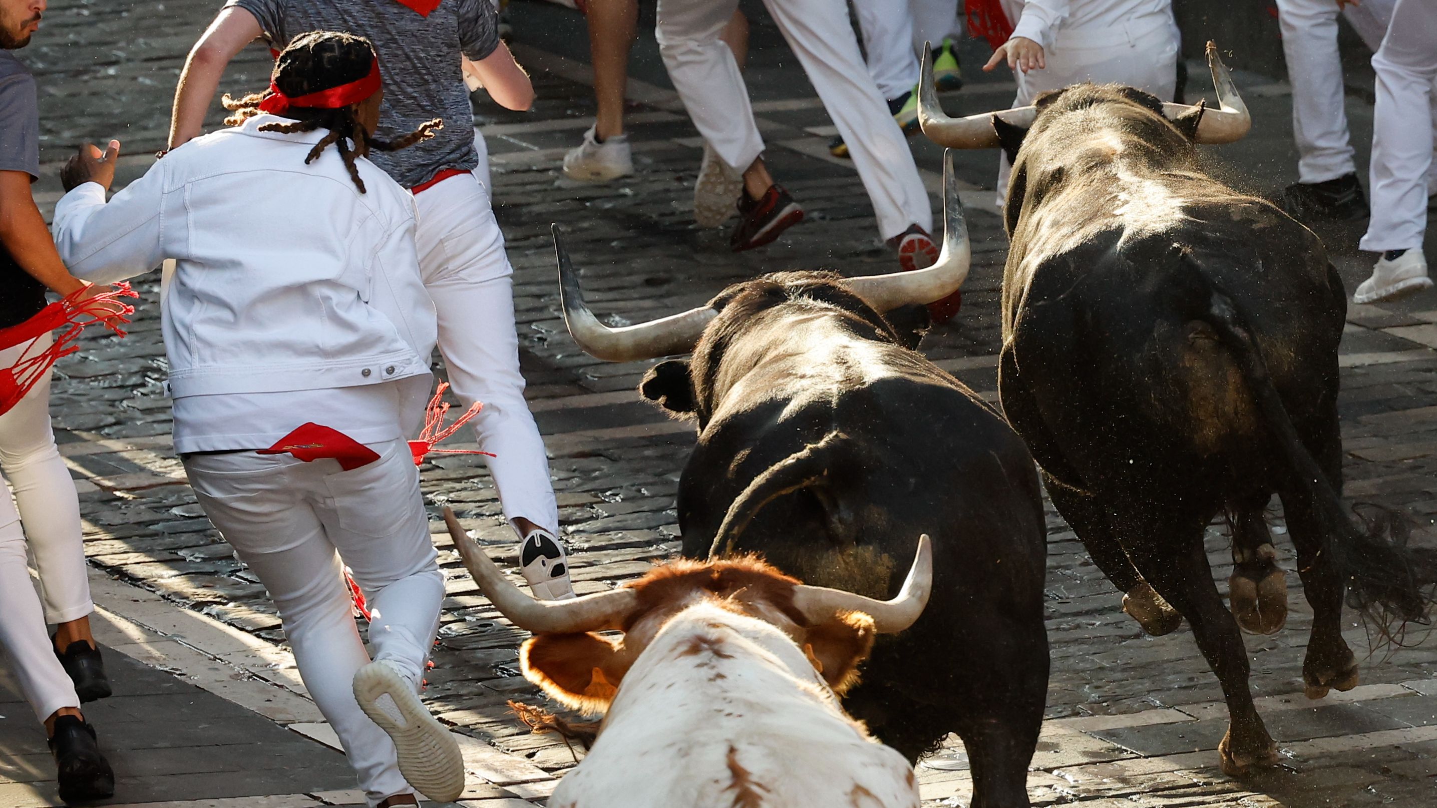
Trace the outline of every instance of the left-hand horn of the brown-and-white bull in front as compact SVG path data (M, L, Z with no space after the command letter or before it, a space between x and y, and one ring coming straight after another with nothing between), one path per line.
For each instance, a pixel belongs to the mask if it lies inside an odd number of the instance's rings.
M535 634L576 634L618 628L638 604L638 594L628 588L595 592L569 601L536 601L504 578L489 555L468 538L448 508L444 509L444 523L450 529L450 538L454 539L454 549L464 559L464 566L484 597L520 628Z

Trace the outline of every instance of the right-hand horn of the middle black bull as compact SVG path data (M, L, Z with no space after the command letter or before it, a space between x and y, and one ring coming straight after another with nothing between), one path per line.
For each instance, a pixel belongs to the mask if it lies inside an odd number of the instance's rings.
M953 170L953 151L943 152L943 252L938 260L917 272L849 277L848 288L879 312L908 303L933 303L958 290L969 277L973 249L969 223L958 201L958 177Z

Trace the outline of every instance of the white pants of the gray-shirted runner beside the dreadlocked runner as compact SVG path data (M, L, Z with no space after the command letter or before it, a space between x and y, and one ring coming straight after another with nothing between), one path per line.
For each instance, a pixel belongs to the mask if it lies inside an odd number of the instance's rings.
M549 459L525 401L514 332L513 273L490 207L473 174L451 177L414 197L424 288L438 315L440 352L454 394L484 408L470 421L507 519L523 516L558 535L559 509Z

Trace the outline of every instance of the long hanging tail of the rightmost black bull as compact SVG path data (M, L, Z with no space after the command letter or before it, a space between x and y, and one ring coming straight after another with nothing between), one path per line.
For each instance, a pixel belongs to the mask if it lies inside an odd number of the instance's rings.
M1302 487L1308 506L1315 510L1322 528L1322 552L1348 582L1349 602L1384 624L1391 614L1403 621L1426 621L1431 594L1424 589L1431 584L1431 565L1420 562L1413 551L1391 541L1384 531L1359 531L1348 519L1332 482L1302 444L1288 408L1267 375L1262 349L1237 305L1191 254L1184 253L1184 260L1211 292L1201 319L1213 326L1237 364L1293 480Z

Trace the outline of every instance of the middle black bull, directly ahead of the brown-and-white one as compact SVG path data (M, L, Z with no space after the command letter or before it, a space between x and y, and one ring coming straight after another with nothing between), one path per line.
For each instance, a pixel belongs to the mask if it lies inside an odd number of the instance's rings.
M951 237L956 191L950 206ZM559 262L565 272L562 247ZM767 275L710 306L693 358L641 385L697 420L678 490L684 555L754 552L805 582L890 598L928 533L927 610L878 640L845 707L910 759L956 732L973 804L1026 807L1048 687L1045 519L1027 449L912 349L917 329L835 273Z

